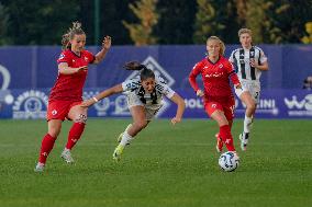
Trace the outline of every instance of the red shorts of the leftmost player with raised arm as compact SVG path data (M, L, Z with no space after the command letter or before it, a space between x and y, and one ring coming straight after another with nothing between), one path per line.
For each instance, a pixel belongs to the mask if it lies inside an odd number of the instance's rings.
M65 120L68 118L68 113L70 108L75 105L79 105L82 103L81 101L52 101L48 102L47 112L46 112L46 120L51 119L60 119Z

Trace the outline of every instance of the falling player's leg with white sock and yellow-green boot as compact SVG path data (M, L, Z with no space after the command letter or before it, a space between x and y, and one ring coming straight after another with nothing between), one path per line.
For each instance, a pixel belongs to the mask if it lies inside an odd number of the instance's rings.
M116 161L121 159L124 147L129 145L134 139L134 137L149 123L146 119L146 111L143 105L134 105L130 107L130 112L132 114L133 123L122 134L121 141L113 152L113 159Z

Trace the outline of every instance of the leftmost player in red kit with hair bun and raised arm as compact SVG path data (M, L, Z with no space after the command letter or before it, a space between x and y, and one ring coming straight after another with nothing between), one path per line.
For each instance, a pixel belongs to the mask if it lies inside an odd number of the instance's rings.
M81 23L74 22L73 27L63 35L63 51L57 60L58 76L55 85L51 90L47 106L47 134L43 137L40 150L36 172L42 172L48 153L60 133L62 123L65 119L74 122L68 141L62 158L67 162L74 162L70 150L81 137L87 122L87 108L80 106L82 102L82 88L88 73L89 64L99 64L105 57L111 47L111 37L105 36L102 49L94 56L85 49L86 33Z

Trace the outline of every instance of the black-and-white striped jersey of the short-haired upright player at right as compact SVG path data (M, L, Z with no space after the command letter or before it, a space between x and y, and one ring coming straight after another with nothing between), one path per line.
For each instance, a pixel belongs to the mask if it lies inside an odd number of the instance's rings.
M232 51L229 60L234 65L239 80L250 80L259 82L261 71L250 67L250 59L255 59L258 65L267 61L267 57L261 48L253 46L250 49L237 48Z

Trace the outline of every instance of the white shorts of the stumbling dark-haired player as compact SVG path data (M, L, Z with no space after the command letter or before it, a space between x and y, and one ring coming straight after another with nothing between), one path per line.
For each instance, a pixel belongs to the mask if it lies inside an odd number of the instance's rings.
M142 103L142 101L140 100L137 95L133 93L129 93L127 94L127 107L131 108L137 105L141 105L145 108L146 120L152 120L156 116L160 107L163 106L161 104L154 104L154 105L147 106L144 103Z

